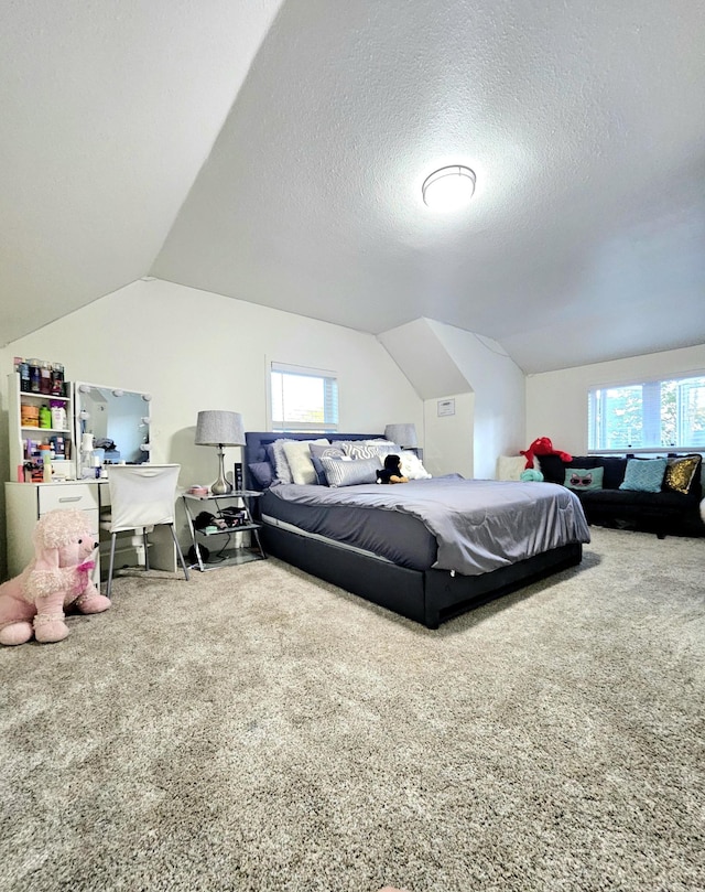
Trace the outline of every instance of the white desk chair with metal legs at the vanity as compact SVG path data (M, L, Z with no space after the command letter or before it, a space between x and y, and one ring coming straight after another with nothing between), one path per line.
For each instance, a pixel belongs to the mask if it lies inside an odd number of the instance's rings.
M188 579L188 568L176 538L174 513L176 504L176 483L180 464L113 464L108 474L110 487L110 519L101 523L104 529L110 531L110 567L108 569L108 589L110 598L112 589L112 571L115 567L115 545L118 533L142 530L144 542L144 569L150 569L148 528L165 524L172 531L178 560Z

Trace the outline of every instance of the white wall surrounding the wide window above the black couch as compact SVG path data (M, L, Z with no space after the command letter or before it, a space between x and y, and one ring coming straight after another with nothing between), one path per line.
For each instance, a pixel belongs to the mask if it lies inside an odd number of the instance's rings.
M587 391L597 385L705 374L705 344L527 378L527 444L549 437L556 449L587 452ZM525 447L522 447L525 449Z

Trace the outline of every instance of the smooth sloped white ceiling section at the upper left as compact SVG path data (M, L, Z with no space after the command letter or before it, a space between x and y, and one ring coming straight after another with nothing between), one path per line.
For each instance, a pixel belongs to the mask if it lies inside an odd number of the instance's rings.
M149 272L280 3L2 4L2 344Z

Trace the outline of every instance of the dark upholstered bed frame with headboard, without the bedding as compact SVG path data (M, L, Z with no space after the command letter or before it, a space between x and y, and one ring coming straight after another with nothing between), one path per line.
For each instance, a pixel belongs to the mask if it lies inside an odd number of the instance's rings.
M332 440L368 440L381 437L379 433L337 432L328 436ZM259 491L261 486L252 477L249 465L265 460L267 445L283 437L289 440L313 440L317 434L248 431L245 437L245 480L248 488ZM568 567L575 567L583 557L582 545L575 542L490 573L468 577L452 574L447 570L410 570L397 567L334 542L268 524L264 524L261 534L264 549L270 555L427 628L437 628L441 623L470 608Z

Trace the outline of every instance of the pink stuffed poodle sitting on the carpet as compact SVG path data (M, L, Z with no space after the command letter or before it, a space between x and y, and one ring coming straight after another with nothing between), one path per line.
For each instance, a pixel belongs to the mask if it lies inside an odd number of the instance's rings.
M0 644L63 641L68 635L64 609L100 613L110 600L90 579L98 545L85 512L53 511L34 533L34 560L20 576L0 585Z

